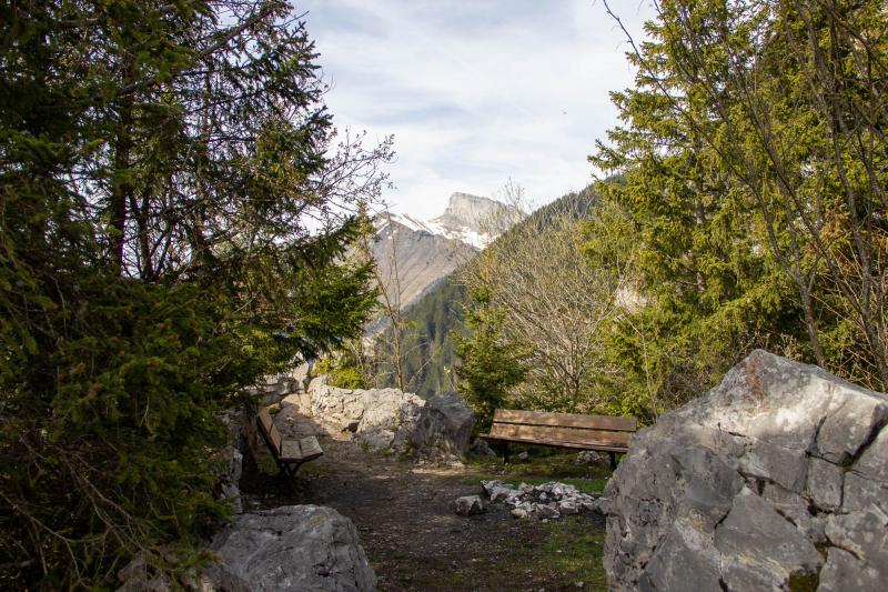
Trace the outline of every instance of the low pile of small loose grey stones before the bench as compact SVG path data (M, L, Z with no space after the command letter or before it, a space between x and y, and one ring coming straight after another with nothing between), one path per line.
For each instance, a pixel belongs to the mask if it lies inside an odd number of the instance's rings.
M465 495L456 500L456 513L477 514L487 503L503 503L515 518L557 519L567 514L598 512L598 499L581 493L574 485L552 481L542 485L522 483L517 489L503 481L482 481L483 495Z

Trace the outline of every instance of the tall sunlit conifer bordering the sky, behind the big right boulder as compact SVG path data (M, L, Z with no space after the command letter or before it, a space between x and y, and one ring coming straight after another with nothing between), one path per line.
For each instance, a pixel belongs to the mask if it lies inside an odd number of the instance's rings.
M628 52L635 86L612 93L624 124L591 157L619 175L599 189L635 234L645 303L612 337L608 352L625 368L615 390L648 400L653 375L667 407L704 392L755 347L791 354L806 342L803 311L773 264L755 204L710 141L723 132L712 97L687 83L676 57L686 43L669 18L676 4L664 2L647 23L649 40ZM700 59L723 63L726 49L707 46Z

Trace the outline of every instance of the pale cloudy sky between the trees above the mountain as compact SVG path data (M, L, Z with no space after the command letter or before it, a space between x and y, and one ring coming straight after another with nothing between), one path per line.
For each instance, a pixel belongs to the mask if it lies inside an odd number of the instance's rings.
M649 0L613 0L639 36ZM596 0L303 0L337 127L395 137L384 195L441 214L454 191L511 178L536 204L592 180L632 81L624 34Z

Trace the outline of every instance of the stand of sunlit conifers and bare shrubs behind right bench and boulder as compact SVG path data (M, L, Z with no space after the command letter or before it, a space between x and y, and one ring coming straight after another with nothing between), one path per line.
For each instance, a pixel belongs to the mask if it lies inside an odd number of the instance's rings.
M885 389L884 6L670 1L647 33L601 207L464 268L461 390L655 421L755 348Z

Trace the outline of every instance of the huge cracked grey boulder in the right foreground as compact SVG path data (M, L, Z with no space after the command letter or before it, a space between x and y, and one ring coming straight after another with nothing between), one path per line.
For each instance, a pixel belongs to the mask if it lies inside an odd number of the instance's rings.
M753 352L633 438L602 504L610 589L884 590L887 422L885 394Z

